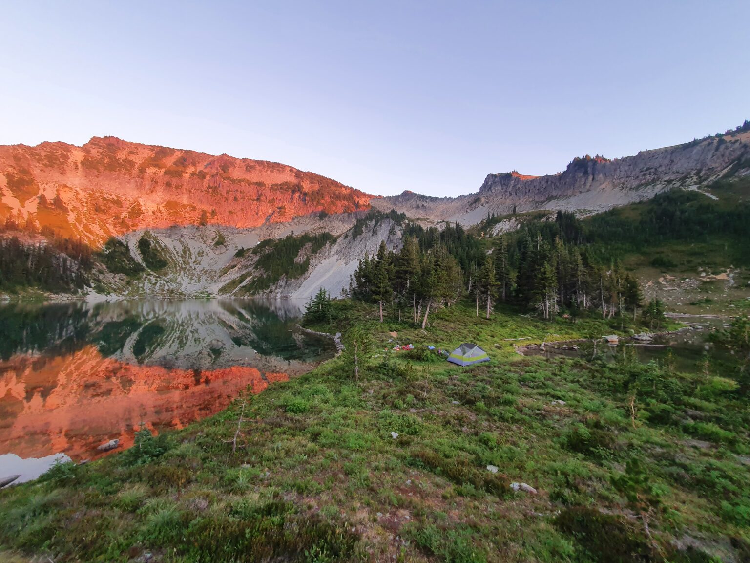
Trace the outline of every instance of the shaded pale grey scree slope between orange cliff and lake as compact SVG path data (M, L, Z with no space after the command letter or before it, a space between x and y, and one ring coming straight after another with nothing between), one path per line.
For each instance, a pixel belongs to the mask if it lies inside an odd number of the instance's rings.
M269 225L255 229L234 227L172 227L134 231L121 236L130 255L143 266L136 275L113 275L105 269L96 272L92 293L102 297L285 297L307 300L320 288L332 295L349 287L349 276L359 258L375 254L381 240L389 248L401 247L401 225L389 218L360 219L362 233L354 234L355 220L338 215L337 221L299 218L291 224ZM281 275L269 287L254 289L253 282L267 272L257 265L261 254L251 251L259 241L279 239L295 233L323 233L331 240L311 251L299 248L296 263L309 260L297 276ZM217 245L220 236L222 244ZM139 250L139 241L147 238L166 263L161 269L149 269Z

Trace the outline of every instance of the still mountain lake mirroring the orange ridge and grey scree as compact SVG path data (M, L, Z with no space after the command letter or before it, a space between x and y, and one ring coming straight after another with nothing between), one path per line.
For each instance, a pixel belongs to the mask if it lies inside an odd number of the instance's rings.
M133 444L331 357L284 300L0 305L0 479Z

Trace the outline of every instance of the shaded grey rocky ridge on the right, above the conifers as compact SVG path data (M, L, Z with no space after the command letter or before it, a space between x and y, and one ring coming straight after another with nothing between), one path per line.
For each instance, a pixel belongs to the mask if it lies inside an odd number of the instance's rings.
M376 209L396 209L414 218L476 224L488 212L504 215L532 209L599 212L653 197L668 188L700 189L721 177L750 174L750 126L682 145L641 151L609 160L574 158L565 171L548 176L489 174L478 193L429 197L410 191L373 200Z

